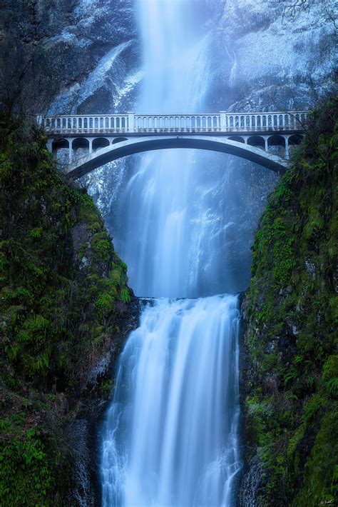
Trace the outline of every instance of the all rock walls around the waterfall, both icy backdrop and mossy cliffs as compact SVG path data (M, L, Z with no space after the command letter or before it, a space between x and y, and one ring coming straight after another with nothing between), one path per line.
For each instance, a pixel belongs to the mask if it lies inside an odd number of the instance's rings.
M140 164L138 156L116 161L69 186L43 132L8 126L8 114L135 109L146 81L135 12L128 0L1 6L4 505L101 502L93 432L111 393L109 364L138 323L109 233L133 287L121 195ZM212 203L200 236L212 253L200 254L207 275L201 270L199 294L247 289L237 498L245 507L334 504L337 495L337 102L321 103L334 96L333 12L334 2L307 1L295 11L252 0L195 2L200 104L209 111L319 104L282 181L249 162L202 155L197 163L208 176L194 176L190 195Z

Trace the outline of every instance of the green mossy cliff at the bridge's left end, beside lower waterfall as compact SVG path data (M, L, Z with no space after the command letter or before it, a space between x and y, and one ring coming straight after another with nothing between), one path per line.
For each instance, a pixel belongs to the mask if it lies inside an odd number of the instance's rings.
M71 505L66 426L130 301L98 210L43 131L0 117L0 505Z

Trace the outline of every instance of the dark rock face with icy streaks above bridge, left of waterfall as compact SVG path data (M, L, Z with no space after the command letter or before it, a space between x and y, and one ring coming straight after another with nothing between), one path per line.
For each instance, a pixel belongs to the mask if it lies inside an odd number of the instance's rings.
M140 80L132 0L4 0L0 99L32 114L128 109Z

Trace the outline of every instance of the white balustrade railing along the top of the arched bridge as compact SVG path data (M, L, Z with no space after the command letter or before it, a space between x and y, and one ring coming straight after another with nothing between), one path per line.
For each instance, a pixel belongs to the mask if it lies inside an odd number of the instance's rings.
M215 114L105 114L38 116L50 134L302 131L307 111Z

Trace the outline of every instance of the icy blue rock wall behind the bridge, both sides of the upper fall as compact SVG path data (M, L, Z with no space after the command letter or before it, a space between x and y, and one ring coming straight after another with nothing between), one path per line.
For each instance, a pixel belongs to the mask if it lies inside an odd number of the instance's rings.
M7 94L7 104L22 104L31 114L135 109L144 80L135 5L125 0L18 1L14 8L13 2L5 1L0 51L4 60L1 89ZM205 84L200 104L204 102L210 111L307 109L332 86L334 24L329 16L333 4L324 9L320 1L307 1L292 18L283 16L282 4L255 0L199 1L195 12L200 59L208 62L201 76ZM19 57L8 59L8 54ZM8 86L9 76L17 76L19 94ZM113 223L123 213L117 198L128 184L135 160L104 166L86 181L121 254L126 233ZM218 192L220 201L210 221L217 223L219 216L226 216L220 227L209 230L217 237L215 249L223 252L223 266L218 264L217 269L223 283L225 278L232 279L227 290L244 290L250 277L252 231L276 178L270 171L231 157L222 161L214 157L205 164L215 166L208 191ZM236 175L226 201L222 195L232 176L218 170L220 164ZM204 187L205 182L198 186ZM203 194L194 199L203 199ZM229 267L223 273L225 265Z

